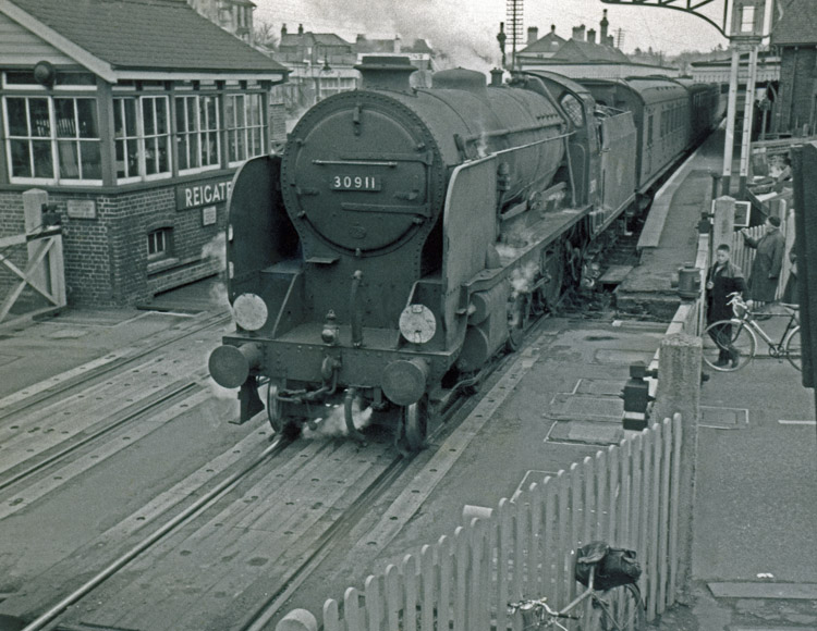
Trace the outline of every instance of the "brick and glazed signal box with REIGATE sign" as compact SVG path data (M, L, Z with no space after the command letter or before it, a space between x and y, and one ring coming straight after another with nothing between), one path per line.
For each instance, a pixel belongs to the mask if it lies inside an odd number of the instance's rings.
M63 225L69 304L123 306L218 272L236 169L269 150L286 71L178 0L0 0L0 226L23 191ZM24 255L25 252L23 252Z

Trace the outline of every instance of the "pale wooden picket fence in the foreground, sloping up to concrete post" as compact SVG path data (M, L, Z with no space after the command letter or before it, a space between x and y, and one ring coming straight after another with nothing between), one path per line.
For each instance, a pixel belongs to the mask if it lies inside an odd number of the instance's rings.
M675 415L502 499L489 518L368 577L363 592L349 587L342 604L327 601L324 629L521 631L508 603L547 596L563 607L582 587L575 550L597 540L637 552L654 619L676 595L681 432Z

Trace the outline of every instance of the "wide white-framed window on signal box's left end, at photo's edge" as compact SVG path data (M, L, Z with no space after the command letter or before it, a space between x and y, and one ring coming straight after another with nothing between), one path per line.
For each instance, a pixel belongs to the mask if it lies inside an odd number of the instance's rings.
M101 184L95 98L14 96L3 107L11 182Z

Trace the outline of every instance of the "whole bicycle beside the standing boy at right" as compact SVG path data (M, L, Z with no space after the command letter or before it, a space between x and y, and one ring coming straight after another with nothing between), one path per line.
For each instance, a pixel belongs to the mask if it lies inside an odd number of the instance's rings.
M785 324L780 341L772 339L763 326L758 324L748 305L740 294L728 296L728 305L732 307L734 317L730 320L719 320L706 327L704 338L704 361L714 369L733 372L742 369L755 357L757 351L757 336L760 336L769 347L769 356L782 361L783 358L797 370L803 370L803 351L800 342L798 306L781 306L786 310L789 322ZM785 313L780 314L786 316Z

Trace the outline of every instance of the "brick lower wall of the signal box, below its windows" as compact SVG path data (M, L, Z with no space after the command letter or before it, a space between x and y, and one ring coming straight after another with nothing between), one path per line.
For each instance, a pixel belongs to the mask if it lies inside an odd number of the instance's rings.
M96 216L69 216L69 199L93 200ZM49 194L49 201L57 205L62 218L69 305L113 307L146 302L157 292L214 275L223 267L221 260L203 255L207 244L223 238L223 201L216 205L216 223L206 226L200 207L176 210L175 185L171 184L120 195L56 191ZM147 234L158 228L172 228L171 256L150 262ZM0 191L0 236L24 230L22 193ZM25 246L15 248L10 258L17 267L25 267ZM16 279L3 270L0 299Z

